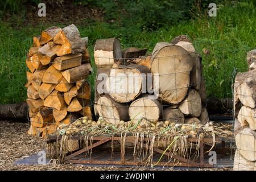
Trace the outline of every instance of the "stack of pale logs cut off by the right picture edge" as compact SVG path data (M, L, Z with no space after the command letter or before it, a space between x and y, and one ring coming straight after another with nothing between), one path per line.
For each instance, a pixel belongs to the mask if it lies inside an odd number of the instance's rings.
M238 73L234 82L234 170L256 170L256 50L247 53L250 71Z

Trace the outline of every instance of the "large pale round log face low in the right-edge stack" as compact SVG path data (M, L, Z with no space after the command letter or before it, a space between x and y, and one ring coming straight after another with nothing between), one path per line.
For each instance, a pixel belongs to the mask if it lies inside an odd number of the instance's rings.
M236 134L237 149L240 154L250 161L256 160L256 131L251 130L249 127L243 128Z

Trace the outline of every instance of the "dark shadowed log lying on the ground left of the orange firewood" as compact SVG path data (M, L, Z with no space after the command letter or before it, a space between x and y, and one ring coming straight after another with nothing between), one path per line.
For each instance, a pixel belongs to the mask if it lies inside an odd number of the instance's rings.
M0 105L1 120L27 121L28 106L26 102Z

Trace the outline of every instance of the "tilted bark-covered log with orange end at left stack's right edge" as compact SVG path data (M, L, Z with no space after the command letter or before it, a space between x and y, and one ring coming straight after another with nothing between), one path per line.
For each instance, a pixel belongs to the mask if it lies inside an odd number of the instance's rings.
M90 63L82 64L79 67L68 69L67 71L62 72L63 77L69 82L76 82L83 80L88 76L92 71Z

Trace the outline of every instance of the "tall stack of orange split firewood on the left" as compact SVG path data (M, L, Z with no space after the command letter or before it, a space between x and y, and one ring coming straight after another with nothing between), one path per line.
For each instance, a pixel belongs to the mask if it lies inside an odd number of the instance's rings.
M90 112L88 38L74 24L50 27L33 39L26 64L28 134L45 137Z

